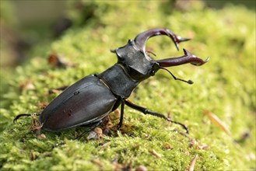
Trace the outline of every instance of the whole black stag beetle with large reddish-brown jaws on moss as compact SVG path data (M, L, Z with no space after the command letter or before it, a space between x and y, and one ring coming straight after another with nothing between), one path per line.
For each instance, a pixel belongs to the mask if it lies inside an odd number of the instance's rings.
M177 36L171 30L158 28L140 33L135 40L128 40L128 44L119 47L111 52L117 54L117 63L100 74L94 74L80 79L72 86L69 86L59 96L51 101L40 113L40 123L42 129L46 131L59 132L72 127L86 126L88 130L80 134L82 136L102 123L104 117L121 105L121 117L119 127L122 126L124 116L124 105L132 109L139 110L144 114L162 117L175 124L180 124L188 133L188 127L184 124L170 120L161 113L156 113L145 107L135 105L128 101L133 89L145 79L156 74L160 69L167 70L166 67L184 65L203 65L209 61L203 61L194 54L184 49L184 55L178 58L167 58L154 60L146 51L146 41L150 37L166 35L170 37L179 50L179 43L189 39ZM177 79L167 70L174 79ZM191 80L183 82L192 84ZM20 114L16 117L29 116L30 114Z

